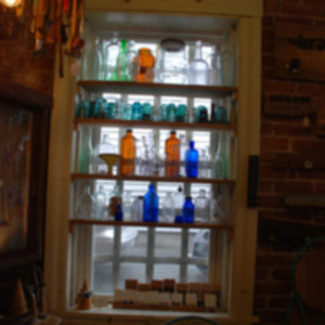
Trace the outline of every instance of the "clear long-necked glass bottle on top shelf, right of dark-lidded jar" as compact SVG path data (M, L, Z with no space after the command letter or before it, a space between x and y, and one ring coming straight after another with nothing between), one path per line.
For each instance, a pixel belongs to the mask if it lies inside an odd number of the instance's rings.
M188 65L188 83L190 84L208 84L209 66L202 56L202 41L195 42L194 60Z

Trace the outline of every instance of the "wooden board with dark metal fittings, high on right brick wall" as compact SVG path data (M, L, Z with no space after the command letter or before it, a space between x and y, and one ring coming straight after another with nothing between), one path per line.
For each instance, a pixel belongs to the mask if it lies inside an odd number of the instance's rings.
M275 32L275 77L325 82L325 30L278 25Z

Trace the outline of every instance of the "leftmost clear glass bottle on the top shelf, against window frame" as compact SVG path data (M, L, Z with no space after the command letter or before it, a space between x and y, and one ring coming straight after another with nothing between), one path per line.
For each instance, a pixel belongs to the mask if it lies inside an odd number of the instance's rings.
M100 50L99 38L92 36L90 42L86 47L82 60L82 79L98 80L100 79L100 70L102 66L102 53Z

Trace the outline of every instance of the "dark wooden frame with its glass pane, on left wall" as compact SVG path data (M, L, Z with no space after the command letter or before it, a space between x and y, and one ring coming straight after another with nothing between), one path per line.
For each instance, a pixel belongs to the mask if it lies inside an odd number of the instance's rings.
M42 256L51 106L0 80L0 269Z

